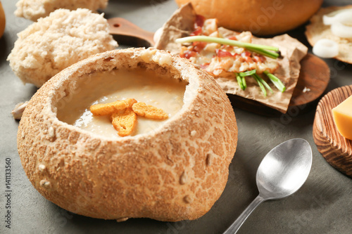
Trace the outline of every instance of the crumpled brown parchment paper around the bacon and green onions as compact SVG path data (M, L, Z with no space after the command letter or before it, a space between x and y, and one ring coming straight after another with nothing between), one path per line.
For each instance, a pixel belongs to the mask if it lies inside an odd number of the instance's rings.
M187 15L184 15L187 13ZM183 17L187 20L181 20ZM192 16L193 15L193 16ZM178 9L163 25L163 31L160 39L156 42L155 47L158 49L168 50L173 54L180 53L181 44L175 43L175 39L187 37L194 30L195 12L191 4L186 4ZM177 19L177 21L175 21ZM193 19L193 20L192 20ZM172 21L172 22L171 22ZM180 23L182 22L182 23ZM189 24L189 25L187 25ZM172 26L172 27L171 27ZM219 32L224 36L238 34L223 27L219 28ZM267 90L268 95L265 97L260 90L258 84L252 77L246 77L247 88L243 91L237 84L237 79L230 72L222 72L220 77L215 77L215 80L220 84L226 93L234 94L251 100L256 100L259 103L286 113L289 108L289 102L296 87L299 71L301 69L300 61L306 56L308 48L301 44L298 40L284 34L270 39L253 37L253 44L262 44L277 46L281 51L281 58L277 59L279 67L275 71L275 76L281 79L286 86L286 91L279 91L266 76L261 76L272 88L273 93ZM267 58L271 59L271 58Z

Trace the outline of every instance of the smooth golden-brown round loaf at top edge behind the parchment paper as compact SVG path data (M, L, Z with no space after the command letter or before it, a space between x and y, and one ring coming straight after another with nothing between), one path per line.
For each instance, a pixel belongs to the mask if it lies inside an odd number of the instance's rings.
M196 13L217 18L219 25L253 34L279 34L306 22L322 0L175 0L179 6L191 1Z

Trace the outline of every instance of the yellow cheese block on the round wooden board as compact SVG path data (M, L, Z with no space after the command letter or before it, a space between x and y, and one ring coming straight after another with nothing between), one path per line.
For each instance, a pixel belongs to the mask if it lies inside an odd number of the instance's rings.
M339 133L352 140L352 96L333 108L332 115Z

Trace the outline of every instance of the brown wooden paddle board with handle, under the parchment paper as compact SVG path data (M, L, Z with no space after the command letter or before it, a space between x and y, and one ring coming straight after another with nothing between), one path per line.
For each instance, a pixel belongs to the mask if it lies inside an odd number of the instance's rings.
M117 36L120 44L128 44L136 47L149 47L154 44L153 32L142 30L128 20L123 18L111 18L108 19L108 23L110 25L110 33ZM291 102L289 103L288 112L303 113L306 110L311 110L309 106L312 105L317 98L322 96L322 93L327 88L329 79L330 72L327 64L317 56L307 54L307 56L301 60L301 72ZM249 100L232 94L228 96L234 107L259 115L282 115L282 112L258 103L256 100Z

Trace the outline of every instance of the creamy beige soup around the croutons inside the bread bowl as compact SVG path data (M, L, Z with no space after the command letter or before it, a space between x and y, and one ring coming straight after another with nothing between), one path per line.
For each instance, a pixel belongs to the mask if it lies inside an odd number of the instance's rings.
M114 70L85 75L77 82L79 87L57 105L58 119L101 136L120 138L113 128L110 116L94 116L89 107L98 103L134 98L168 113L168 119L183 105L187 82L170 79L146 70ZM137 117L137 127L131 136L144 134L161 126L165 120Z

